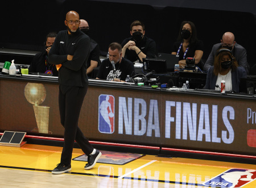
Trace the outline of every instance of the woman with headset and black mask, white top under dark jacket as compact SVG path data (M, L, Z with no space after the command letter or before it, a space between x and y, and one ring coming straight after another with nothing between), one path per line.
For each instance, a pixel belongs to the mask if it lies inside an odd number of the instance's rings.
M245 69L238 66L232 51L227 48L220 48L214 57L214 65L208 69L204 89L220 90L221 81L224 80L226 91L238 93L241 78L246 78Z

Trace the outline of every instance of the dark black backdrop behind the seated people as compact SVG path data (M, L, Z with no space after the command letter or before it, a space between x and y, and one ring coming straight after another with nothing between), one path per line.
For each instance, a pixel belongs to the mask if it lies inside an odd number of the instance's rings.
M216 1L214 6L212 5L213 9L210 9L211 4L207 3L208 1L205 1L205 6L201 3L192 6L191 3L185 3L186 1L153 2L148 0L148 5L143 5L146 4L145 1L3 1L0 8L3 22L0 47L40 51L48 32L65 30L65 14L69 10L75 10L79 12L80 19L88 21L90 37L100 45L102 55L108 51L110 43L121 43L130 36L130 24L134 20L141 20L145 24L146 36L156 41L158 52L171 53L180 23L190 20L196 25L197 37L204 42L204 60L207 59L213 44L219 43L222 34L230 31L236 36L237 43L246 48L250 66L255 64L256 24L251 9L253 4L235 9ZM241 1L237 0L228 2L232 2L232 5L241 4Z

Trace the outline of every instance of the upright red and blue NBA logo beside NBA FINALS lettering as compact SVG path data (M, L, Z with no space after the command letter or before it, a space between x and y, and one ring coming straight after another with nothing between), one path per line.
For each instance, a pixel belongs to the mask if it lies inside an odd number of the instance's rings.
M115 98L113 95L98 97L98 131L101 133L114 132Z

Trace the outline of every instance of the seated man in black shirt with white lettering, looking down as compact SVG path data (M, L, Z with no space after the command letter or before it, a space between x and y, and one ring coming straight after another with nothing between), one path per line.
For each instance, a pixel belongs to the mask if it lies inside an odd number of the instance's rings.
M96 79L125 82L127 75L131 77L134 74L133 63L122 57L122 46L119 43L111 43L109 45L109 59L102 61Z

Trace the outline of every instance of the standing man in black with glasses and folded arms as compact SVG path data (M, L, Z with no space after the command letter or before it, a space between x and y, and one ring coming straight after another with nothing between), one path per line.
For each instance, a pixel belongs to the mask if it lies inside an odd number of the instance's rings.
M60 164L52 170L53 174L71 170L75 140L88 156L88 164L84 167L86 170L93 168L101 156L101 152L92 147L78 127L82 102L88 89L86 63L90 53L90 39L79 30L80 20L77 12L67 13L65 25L68 30L59 32L49 51L48 59L59 70L60 122L65 128Z

